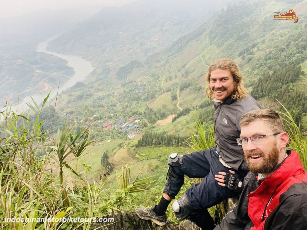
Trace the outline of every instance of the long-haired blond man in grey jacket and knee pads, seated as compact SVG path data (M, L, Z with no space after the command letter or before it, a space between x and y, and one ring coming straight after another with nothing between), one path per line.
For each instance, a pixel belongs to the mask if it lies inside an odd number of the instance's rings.
M213 62L206 74L205 91L214 102L214 131L216 146L211 149L169 156L169 170L161 200L151 208L136 208L139 218L166 224L166 209L178 194L184 177L204 178L192 185L185 194L173 202L173 211L180 220L189 219L202 230L212 230L215 223L208 208L241 192L242 178L248 168L242 148L237 144L240 135L240 117L259 105L243 85L243 76L231 59ZM231 173L229 173L231 172ZM234 174L233 174L234 173ZM215 180L220 175L222 182Z

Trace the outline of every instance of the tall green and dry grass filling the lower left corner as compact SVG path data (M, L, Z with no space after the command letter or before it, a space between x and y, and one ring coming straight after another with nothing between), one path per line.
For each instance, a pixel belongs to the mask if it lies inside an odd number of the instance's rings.
M30 121L28 113L16 114L8 105L0 111L0 229L91 229L91 221L71 223L52 218L103 217L120 206L127 208L126 201L118 202L123 195L148 188L148 182L130 182L129 171L122 171L125 185L114 192L110 187L115 181L97 182L87 178L87 173L81 177L84 167L80 170L78 163L72 169L68 156L78 159L92 143L88 140L88 128L75 134L73 128L64 125L54 137L47 137L50 131L42 129L44 121L39 116L48 96L41 107L34 101L34 105L29 105L37 116L34 121ZM49 146L49 142L53 145ZM40 157L38 151L45 155ZM22 222L21 218L26 217L47 221Z

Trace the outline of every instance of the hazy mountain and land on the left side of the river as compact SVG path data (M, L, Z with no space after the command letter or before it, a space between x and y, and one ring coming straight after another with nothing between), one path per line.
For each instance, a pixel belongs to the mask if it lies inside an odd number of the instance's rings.
M18 17L0 16L0 105L6 100L17 102L36 94L46 84L56 87L58 81L74 74L67 62L45 53L37 53L38 43L64 33L98 10L40 10ZM65 71L65 72L64 72Z

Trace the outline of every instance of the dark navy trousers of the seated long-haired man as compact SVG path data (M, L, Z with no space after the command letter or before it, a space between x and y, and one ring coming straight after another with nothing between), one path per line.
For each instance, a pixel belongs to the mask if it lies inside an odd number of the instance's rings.
M231 168L223 166L215 151L216 148L211 148L183 155L182 165L172 167L173 171L178 175L177 180L165 185L163 191L163 193L174 199L184 183L185 175L189 178L203 177L204 179L199 184L194 184L186 190L192 205L189 219L201 227L202 230L214 228L214 222L207 210L208 208L238 195L238 193L217 184L214 175L218 174L218 172L229 173ZM243 171L238 173L242 176L246 175L246 172Z

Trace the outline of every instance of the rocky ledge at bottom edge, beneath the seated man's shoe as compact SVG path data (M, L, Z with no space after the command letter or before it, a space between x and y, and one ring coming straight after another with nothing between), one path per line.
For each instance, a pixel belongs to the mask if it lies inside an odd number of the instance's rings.
M96 222L91 225L90 229L96 229L99 227L101 230L199 230L195 224L191 221L186 220L182 225L174 225L167 223L165 226L158 226L153 224L150 220L142 220L138 218L135 212L128 210L121 213L117 210L112 213L106 214L104 220L114 218L113 223Z

